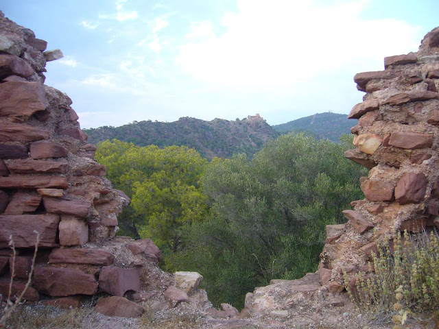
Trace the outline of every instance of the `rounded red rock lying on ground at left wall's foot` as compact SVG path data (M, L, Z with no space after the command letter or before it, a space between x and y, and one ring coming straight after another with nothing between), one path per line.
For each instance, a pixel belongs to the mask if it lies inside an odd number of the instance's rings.
M95 312L108 317L141 317L143 307L124 297L101 297L97 300Z

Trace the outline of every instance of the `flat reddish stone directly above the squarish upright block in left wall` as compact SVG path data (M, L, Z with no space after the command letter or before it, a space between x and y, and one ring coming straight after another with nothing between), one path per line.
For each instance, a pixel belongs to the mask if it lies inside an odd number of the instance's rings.
M43 202L47 212L54 214L73 215L84 218L91 215L91 202L86 200L45 197Z

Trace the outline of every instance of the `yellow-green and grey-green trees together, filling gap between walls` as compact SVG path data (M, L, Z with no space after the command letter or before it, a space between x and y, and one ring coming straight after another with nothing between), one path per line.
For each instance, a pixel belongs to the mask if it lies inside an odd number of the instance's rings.
M150 237L162 265L198 271L215 304L243 306L244 295L272 278L316 271L325 226L360 198L365 169L346 160L351 146L305 134L280 136L249 160L238 154L207 163L187 147L98 145L108 178L132 197L123 233Z

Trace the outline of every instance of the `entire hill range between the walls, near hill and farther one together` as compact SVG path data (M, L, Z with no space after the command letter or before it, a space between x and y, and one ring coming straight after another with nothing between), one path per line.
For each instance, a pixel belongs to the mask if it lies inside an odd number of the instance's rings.
M327 138L338 142L341 134L349 134L353 125L355 123L348 120L346 114L325 112L281 125L269 125L256 114L233 121L218 118L204 121L190 117L182 117L170 123L134 121L120 127L84 129L84 132L88 134L88 141L93 144L115 138L139 146L187 146L193 147L211 160L215 156L231 158L233 154L238 153L245 153L251 157L268 141L289 132L309 132L318 139Z

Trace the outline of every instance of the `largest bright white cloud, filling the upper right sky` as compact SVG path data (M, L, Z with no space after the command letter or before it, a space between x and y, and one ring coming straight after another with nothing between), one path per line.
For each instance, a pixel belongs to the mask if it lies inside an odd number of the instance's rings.
M192 23L177 61L205 83L291 94L303 81L318 84L322 74L379 70L383 57L416 51L416 27L361 19L368 1L324 3L238 0L239 11L224 14L224 34L209 22Z

